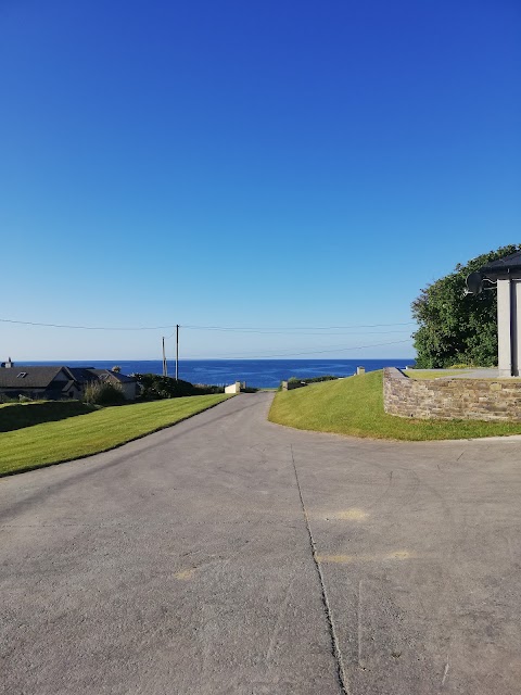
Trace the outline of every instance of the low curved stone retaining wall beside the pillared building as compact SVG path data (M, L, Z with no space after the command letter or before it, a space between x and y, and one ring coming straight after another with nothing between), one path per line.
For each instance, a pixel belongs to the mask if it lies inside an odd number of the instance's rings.
M385 413L422 419L521 420L521 381L409 379L383 370Z

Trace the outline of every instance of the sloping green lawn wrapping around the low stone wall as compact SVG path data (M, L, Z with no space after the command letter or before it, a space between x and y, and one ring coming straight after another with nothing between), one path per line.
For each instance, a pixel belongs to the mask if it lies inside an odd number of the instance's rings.
M521 422L417 420L387 415L382 379L382 371L371 371L282 391L275 396L269 419L301 430L409 441L521 434Z

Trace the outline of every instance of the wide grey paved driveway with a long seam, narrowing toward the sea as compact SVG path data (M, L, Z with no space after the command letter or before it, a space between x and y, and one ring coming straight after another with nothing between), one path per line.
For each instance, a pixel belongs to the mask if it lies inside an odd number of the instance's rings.
M0 480L1 693L521 692L521 442L298 432L270 399Z

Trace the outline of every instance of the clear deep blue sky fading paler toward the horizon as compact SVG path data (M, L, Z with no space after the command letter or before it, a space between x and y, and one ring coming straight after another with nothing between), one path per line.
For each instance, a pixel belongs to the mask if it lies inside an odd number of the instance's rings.
M518 0L1 0L0 317L410 321L520 241L520 74ZM181 354L409 357L343 349L411 328L185 329ZM0 324L0 358L155 358L163 333Z

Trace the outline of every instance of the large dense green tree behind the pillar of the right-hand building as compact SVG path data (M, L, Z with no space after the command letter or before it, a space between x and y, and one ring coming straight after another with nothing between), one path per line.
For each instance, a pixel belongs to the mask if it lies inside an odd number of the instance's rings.
M490 367L497 364L496 290L465 294L466 279L482 266L521 250L521 244L458 264L453 273L421 290L412 302L419 328L414 333L416 364L423 369L455 363Z

